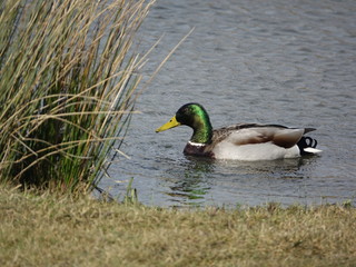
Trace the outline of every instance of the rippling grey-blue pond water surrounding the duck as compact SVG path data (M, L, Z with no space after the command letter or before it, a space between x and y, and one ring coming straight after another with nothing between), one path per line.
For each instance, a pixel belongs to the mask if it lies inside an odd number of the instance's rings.
M356 205L356 1L158 0L139 33L145 80L191 28L137 102L101 187L162 207ZM315 127L323 154L240 162L185 157L188 127L156 134L177 109L200 102L212 126ZM120 182L118 182L120 181Z

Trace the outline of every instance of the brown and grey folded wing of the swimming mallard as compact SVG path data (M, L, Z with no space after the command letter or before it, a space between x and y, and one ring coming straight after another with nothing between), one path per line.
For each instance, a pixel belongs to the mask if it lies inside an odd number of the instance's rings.
M222 141L235 146L273 142L276 146L290 148L295 146L304 134L314 128L288 128L280 125L240 123L214 131L212 144Z

